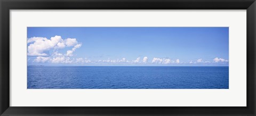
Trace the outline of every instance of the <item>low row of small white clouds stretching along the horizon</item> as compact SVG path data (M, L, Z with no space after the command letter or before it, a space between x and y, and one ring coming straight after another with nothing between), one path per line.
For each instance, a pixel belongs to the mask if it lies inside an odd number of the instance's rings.
M125 57L122 59L107 59L107 60L89 60L86 57L78 57L78 58L70 58L66 54L61 54L58 52L54 52L52 56L37 56L34 62L37 63L75 63L75 64L163 64L163 65L169 65L169 64L211 64L211 63L228 63L228 60L221 59L216 57L213 59L213 62L210 61L204 61L203 59L198 59L193 61L188 61L188 62L181 62L179 59L176 60L171 60L171 59L166 59L166 58L159 58L159 57L153 57L151 62L148 62L149 58L147 56L144 56L143 59L141 60L140 57L137 57L135 60L126 60Z

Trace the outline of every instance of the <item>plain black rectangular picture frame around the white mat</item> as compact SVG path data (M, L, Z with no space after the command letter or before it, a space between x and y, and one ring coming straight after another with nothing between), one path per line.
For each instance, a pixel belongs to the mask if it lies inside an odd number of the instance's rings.
M255 115L255 0L0 0L1 115ZM10 10L218 9L246 10L246 107L12 107L10 106ZM103 19L102 19L103 20ZM189 20L189 19L188 19ZM21 22L22 23L22 22ZM239 22L237 22L239 23ZM71 99L70 99L71 100ZM72 101L72 100L71 100ZM150 102L150 101L149 101ZM236 101L234 101L236 102Z

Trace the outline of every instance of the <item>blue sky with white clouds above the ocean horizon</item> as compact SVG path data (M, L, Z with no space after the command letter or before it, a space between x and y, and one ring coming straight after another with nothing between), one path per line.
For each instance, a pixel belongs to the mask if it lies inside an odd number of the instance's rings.
M228 66L228 27L27 27L27 64Z

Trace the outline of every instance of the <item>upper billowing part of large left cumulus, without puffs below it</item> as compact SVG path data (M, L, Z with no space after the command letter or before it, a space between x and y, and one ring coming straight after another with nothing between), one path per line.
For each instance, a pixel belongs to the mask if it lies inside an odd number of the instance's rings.
M72 51L81 47L82 44L78 44L76 38L62 39L61 36L54 36L50 39L45 37L31 37L27 39L28 44L28 56L49 56L47 54L50 49L60 49L65 47L74 46ZM73 52L69 51L71 55Z

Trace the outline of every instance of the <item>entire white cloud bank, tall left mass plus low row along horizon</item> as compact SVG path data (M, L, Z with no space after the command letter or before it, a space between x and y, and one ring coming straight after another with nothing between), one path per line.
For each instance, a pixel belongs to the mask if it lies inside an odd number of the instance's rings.
M214 63L228 63L228 60L215 57L212 61L205 61L203 59L182 61L180 59L169 59L161 57L137 57L135 60L127 60L125 57L121 59L102 59L90 60L86 57L76 56L76 49L82 46L76 38L63 39L61 36L54 36L50 39L45 37L31 37L27 39L27 55L36 56L34 63L63 63L63 64L155 64L155 65L177 65L177 64L214 64ZM60 49L64 49L63 53L59 53ZM62 50L63 51L63 50Z

